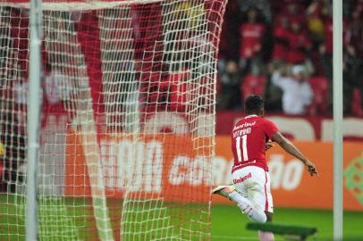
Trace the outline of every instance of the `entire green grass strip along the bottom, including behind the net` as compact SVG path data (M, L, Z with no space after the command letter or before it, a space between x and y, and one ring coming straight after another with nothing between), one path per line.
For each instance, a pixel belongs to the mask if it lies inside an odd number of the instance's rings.
M56 199L56 198L43 198L40 202L40 229L42 233L46 234L41 240L65 240L59 237L68 237L67 240L97 240L94 220L84 218L90 216L90 208L77 208L77 206L89 206L88 201L84 199ZM107 202L110 212L110 218L114 229L120 223L121 210L115 208L122 204L119 200ZM2 195L0 194L0 240L24 240L25 234L25 220L24 220L24 199L19 196ZM150 206L151 205L151 206ZM172 207L173 205L180 204L165 204ZM158 203L148 203L148 207L160 208ZM188 205L186 205L188 207ZM190 210L198 210L198 205L189 205ZM145 208L145 206L144 206ZM169 215L173 211L165 209ZM185 210L189 212L190 210ZM141 210L134 210L137 213ZM238 241L238 240L258 240L257 232L245 229L249 220L242 214L236 206L233 205L212 205L212 241ZM152 219L155 215L160 215L159 212L153 213L139 212L138 219L140 223L143 220ZM178 214L178 213L176 213ZM146 216L144 216L146 215ZM197 212L193 214L195 217L190 216L190 219L198 216ZM55 218L56 216L56 218ZM167 216L167 215L165 215ZM168 220L162 220L164 224L156 225L159 228L169 225L169 229L158 229L158 231L150 232L145 239L142 237L133 236L132 230L130 235L124 240L165 240L155 239L155 237L165 237L163 232L173 231L173 223ZM281 224L300 225L308 227L317 227L318 233L316 239L310 238L308 240L333 240L333 212L322 210L303 210L303 209L290 209L290 208L275 208L274 222ZM157 229L154 223L144 223L144 227L150 229ZM346 241L363 241L363 212L344 212L344 240ZM117 233L115 231L115 233ZM9 235L13 234L13 235ZM167 236L170 237L170 236ZM196 240L198 238L196 237ZM179 238L172 238L170 240L180 240ZM183 239L184 240L184 239ZM186 238L185 240L193 240L193 237ZM281 236L275 236L275 240L283 240Z

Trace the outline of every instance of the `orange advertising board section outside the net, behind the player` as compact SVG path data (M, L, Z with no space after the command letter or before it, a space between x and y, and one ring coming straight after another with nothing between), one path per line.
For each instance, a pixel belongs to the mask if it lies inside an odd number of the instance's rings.
M229 137L217 137L216 158L232 159ZM310 177L300 161L286 154L279 146L267 151L274 206L303 208L333 208L333 144L321 142L295 142L302 153L316 163L320 177ZM363 145L344 143L344 209L363 210ZM231 162L231 161L230 161ZM225 164L228 166L228 164ZM225 168L227 169L227 168ZM215 174L218 175L218 174ZM225 175L225 174L224 174ZM224 181L225 183L225 181ZM225 203L215 197L216 203Z

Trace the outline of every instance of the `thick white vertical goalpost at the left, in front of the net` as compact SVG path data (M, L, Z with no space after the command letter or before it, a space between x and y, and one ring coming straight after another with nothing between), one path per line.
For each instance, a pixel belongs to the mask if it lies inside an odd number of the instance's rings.
M26 240L38 238L38 184L40 126L40 83L42 43L42 0L30 0L30 84L28 101L28 175L26 203Z

